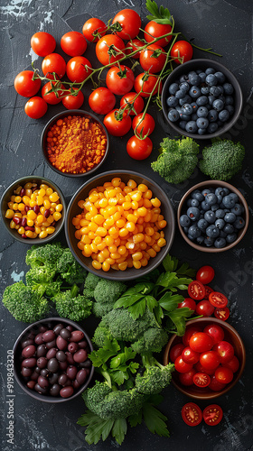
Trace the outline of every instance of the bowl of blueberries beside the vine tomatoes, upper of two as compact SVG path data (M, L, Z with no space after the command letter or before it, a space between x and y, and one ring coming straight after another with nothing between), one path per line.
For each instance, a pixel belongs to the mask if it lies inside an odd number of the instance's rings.
M213 60L191 60L178 66L162 92L166 121L177 133L193 139L226 133L238 120L242 103L237 78Z

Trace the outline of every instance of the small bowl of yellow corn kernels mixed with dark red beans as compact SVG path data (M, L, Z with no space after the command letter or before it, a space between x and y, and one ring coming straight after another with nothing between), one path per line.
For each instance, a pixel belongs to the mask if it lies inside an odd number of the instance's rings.
M44 177L17 179L1 199L8 232L25 244L48 243L62 229L66 205L61 189Z

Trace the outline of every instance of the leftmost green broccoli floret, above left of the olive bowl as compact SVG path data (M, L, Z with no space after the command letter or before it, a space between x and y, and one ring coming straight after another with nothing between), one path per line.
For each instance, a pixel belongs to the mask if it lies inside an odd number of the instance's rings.
M48 300L38 291L19 281L5 288L3 303L18 321L33 323L44 318L49 311Z

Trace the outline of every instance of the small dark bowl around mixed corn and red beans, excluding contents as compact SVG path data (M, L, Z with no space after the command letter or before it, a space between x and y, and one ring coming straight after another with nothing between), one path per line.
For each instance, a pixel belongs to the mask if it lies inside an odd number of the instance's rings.
M20 185L22 186L25 185L25 183L27 182L37 183L38 185L45 183L54 191L56 191L61 199L61 205L63 207L61 210L61 219L59 219L59 221L56 222L54 233L51 235L47 235L45 238L27 238L27 239L22 238L22 236L18 234L16 229L10 228L10 219L7 219L5 217L5 212L8 209L8 202L10 202L11 196L13 196L14 194L14 190L17 189ZM14 183L12 183L12 185L10 185L5 190L1 198L1 214L7 231L9 232L10 235L14 237L15 240L20 241L23 244L45 244L52 241L61 232L66 215L66 204L61 189L57 185L55 185L55 183L53 183L52 180L46 179L45 177L29 175L27 177L22 177L21 179L15 180Z

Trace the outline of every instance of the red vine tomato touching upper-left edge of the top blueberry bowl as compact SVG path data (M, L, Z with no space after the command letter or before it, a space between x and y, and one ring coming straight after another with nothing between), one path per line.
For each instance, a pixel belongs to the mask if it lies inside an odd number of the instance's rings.
M140 52L140 65L149 73L156 74L164 68L166 53L159 45L151 44Z

